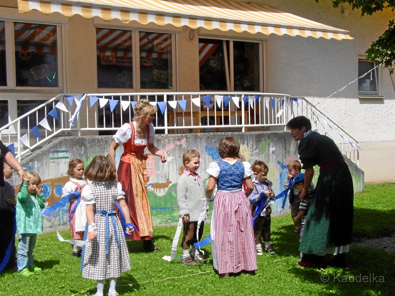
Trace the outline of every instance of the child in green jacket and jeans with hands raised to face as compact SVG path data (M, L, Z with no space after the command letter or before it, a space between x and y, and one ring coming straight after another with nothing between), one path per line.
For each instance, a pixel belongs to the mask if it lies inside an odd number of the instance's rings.
M22 275L41 270L33 264L33 250L37 233L42 232L41 209L44 208L44 201L40 176L33 171L25 172L16 202L17 266Z

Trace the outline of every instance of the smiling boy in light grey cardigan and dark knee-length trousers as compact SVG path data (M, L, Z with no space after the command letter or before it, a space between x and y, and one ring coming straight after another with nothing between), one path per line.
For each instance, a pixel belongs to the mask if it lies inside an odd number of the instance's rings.
M185 265L196 265L195 261L207 262L194 247L194 243L197 243L197 235L198 239L201 239L204 220L208 214L201 178L197 174L197 169L200 165L199 152L197 150L185 151L182 156L182 162L185 170L180 179L178 179L177 184L177 202L184 226L184 235L181 242L182 262ZM199 229L197 229L198 222L200 222Z

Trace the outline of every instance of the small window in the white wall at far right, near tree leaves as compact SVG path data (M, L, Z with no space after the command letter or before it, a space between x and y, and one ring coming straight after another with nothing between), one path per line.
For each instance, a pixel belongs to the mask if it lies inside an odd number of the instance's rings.
M379 67L369 60L358 60L358 94L361 96L379 96ZM373 70L372 70L373 69ZM372 70L372 71L370 71ZM370 71L370 72L369 72Z

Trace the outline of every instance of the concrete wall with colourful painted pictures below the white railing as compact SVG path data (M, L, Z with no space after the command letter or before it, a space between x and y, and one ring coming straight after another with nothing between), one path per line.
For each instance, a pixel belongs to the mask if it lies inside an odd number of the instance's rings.
M233 136L240 143L240 152L249 162L256 159L265 161L269 166L268 179L273 182L276 194L280 193L286 181L285 165L298 158L297 145L287 132L256 133L212 133L212 134L180 134L157 135L156 146L168 154L168 161L160 163L159 158L150 155L147 159L148 197L153 220L156 224L178 221L177 181L183 171L182 154L187 149L200 151L200 176L206 180L205 169L212 161L219 160L218 144L222 137ZM72 158L80 158L85 166L96 155L108 153L111 136L63 137L40 149L26 158L22 165L28 170L36 171L44 184L44 195L49 205L59 200L62 187L68 181L66 171ZM116 161L122 153L119 147ZM363 172L349 163L356 192L363 190ZM319 174L317 168L314 182ZM273 209L274 215L281 211L281 200L277 200ZM212 207L212 204L210 205ZM288 205L285 207L288 210ZM60 225L67 225L68 206L58 210L55 219ZM46 225L47 226L47 225Z

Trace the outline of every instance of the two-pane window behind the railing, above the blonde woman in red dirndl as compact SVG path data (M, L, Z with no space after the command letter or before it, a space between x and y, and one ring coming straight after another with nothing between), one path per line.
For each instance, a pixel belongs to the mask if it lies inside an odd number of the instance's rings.
M97 87L173 89L173 42L174 34L96 28Z

